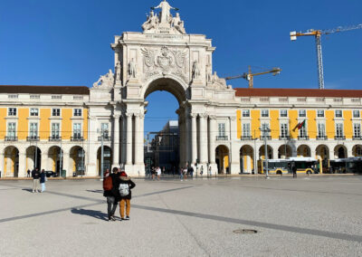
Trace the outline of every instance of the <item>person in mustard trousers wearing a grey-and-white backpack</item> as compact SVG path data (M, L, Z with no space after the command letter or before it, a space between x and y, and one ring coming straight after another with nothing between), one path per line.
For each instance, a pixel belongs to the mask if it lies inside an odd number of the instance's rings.
M119 176L119 214L122 220L129 220L130 212L130 199L132 197L131 189L136 184L127 176L126 172L121 171ZM126 205L126 218L125 218L125 205Z

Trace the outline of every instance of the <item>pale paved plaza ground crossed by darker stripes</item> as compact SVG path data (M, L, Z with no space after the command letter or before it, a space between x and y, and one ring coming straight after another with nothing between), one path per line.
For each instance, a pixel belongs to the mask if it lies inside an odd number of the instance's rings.
M99 180L1 180L0 255L362 254L361 176L134 181L130 221L108 222Z

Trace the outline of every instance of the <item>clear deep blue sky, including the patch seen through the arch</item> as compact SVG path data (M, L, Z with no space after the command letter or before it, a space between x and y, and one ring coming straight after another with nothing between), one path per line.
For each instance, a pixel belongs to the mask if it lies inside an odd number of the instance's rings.
M2 0L0 84L85 85L113 68L114 35L140 32L150 6L160 0ZM213 39L214 71L230 76L257 67L281 67L278 76L255 77L256 88L318 88L313 37L291 42L291 31L362 24L359 0L169 1L187 33ZM322 38L327 89L362 90L362 29ZM230 82L234 88L247 81ZM148 97L146 129L176 118L176 99ZM169 108L165 109L165 102Z

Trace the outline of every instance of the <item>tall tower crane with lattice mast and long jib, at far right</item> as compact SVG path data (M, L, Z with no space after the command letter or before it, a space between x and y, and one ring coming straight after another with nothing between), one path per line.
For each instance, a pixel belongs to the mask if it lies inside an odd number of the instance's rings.
M350 30L357 30L362 29L362 24L358 24L355 26L349 26L349 27L337 27L335 29L330 30L313 30L310 29L306 33L297 33L297 32L291 32L291 41L296 41L298 36L305 36L305 35L312 35L316 39L316 47L317 47L317 62L318 62L318 79L319 79L319 90L324 89L324 75L323 75L323 59L322 59L322 44L320 40L320 36L322 34L330 34L330 33L339 33L339 32L345 32Z

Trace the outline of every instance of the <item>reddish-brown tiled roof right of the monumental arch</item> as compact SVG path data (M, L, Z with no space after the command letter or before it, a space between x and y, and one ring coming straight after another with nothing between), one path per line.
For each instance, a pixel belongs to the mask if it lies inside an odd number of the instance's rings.
M330 97L362 98L362 90L234 89L237 97Z

